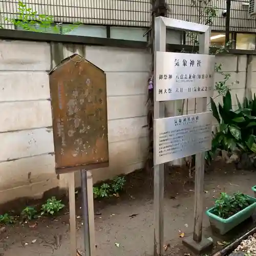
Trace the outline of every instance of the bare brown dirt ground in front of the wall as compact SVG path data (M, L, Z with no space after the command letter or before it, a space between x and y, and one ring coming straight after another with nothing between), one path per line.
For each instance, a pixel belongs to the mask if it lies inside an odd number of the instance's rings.
M236 170L232 165L216 163L205 174L205 210L213 205L221 191L232 193L241 191L253 195L256 173ZM154 246L153 174L144 170L126 177L125 191L119 198L95 201L95 236L97 256L152 256ZM77 196L77 241L83 248L81 198ZM164 199L164 241L170 247L166 255L191 253L182 245L180 233L185 237L193 232L194 182L187 178L187 171L170 167L165 171ZM133 217L130 217L132 216ZM252 223L242 224L239 231ZM69 253L69 214L37 222L17 223L0 229L0 240L5 246L4 256L54 255L68 256ZM54 237L61 236L56 245ZM239 236L232 231L227 237L211 233L206 215L203 220L203 236L211 237L218 249L218 243ZM117 247L116 243L120 246ZM220 245L219 245L220 247ZM189 255L189 254L187 254ZM193 255L191 253L191 255ZM73 256L73 255L72 255Z

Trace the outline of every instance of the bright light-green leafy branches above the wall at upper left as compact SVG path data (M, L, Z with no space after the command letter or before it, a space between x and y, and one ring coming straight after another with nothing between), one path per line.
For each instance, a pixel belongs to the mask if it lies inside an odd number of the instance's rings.
M27 5L21 1L18 2L17 10L16 18L5 17L5 20L16 27L27 31L65 34L80 25L80 23L65 26L62 26L62 23L56 24L53 16L39 14L37 11L28 8Z

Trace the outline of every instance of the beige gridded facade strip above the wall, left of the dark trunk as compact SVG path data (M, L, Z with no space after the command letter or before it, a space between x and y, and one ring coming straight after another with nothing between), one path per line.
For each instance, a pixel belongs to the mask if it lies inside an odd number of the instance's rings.
M6 29L13 29L5 18L17 18L18 2L18 0L0 0L1 24ZM23 0L22 2L37 14L53 16L55 22L150 26L151 0Z

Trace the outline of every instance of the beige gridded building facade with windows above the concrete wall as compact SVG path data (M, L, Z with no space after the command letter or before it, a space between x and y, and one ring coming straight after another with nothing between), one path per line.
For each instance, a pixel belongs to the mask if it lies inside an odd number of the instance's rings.
M211 44L225 44L225 0L166 0L169 16L195 23L205 24L206 7L214 7L217 17L211 26ZM151 0L23 0L23 3L38 14L54 16L56 23L68 26L81 22L69 34L147 41L147 31L151 24ZM7 29L14 28L5 20L18 18L18 0L0 0L1 23ZM256 21L249 17L248 0L231 0L230 39L233 47L242 50L255 50ZM51 31L46 31L51 32ZM167 32L167 43L171 41ZM183 36L184 44L189 44Z

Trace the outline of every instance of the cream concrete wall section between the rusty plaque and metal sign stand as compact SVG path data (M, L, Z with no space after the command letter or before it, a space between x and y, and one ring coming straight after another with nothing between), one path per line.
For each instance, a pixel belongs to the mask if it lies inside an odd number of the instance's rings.
M87 46L86 59L104 70L107 81L110 167L94 181L141 168L147 149L147 79L151 56L143 50Z

